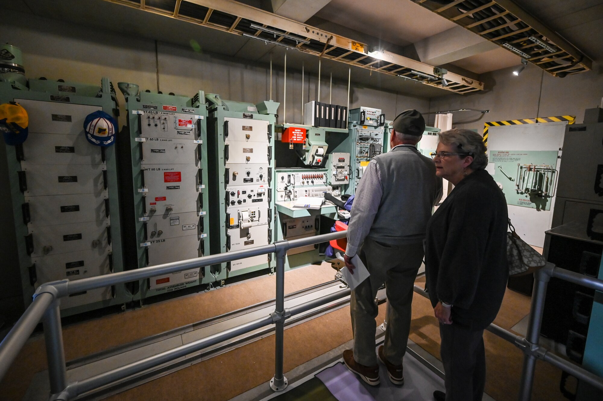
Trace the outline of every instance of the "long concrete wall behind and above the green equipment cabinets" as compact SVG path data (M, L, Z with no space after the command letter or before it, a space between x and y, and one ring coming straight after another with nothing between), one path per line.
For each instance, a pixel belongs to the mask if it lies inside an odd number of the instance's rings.
M101 77L108 76L116 89L117 82L126 81L140 85L141 90L161 90L177 95L192 96L198 90L204 90L233 101L257 103L270 98L270 70L266 64L195 52L142 37L124 36L13 11L7 11L7 15L10 17L0 24L0 40L21 48L29 78L45 76L48 79L100 84ZM272 97L281 103L279 122L283 122L283 83L282 69L273 70ZM286 84L286 122L301 122L301 102L316 99L317 76L305 74L303 99L301 71L289 67ZM347 81L334 81L332 93L326 75L323 75L321 85L322 101L328 101L331 95L333 103L347 104ZM125 101L119 91L117 99L122 109L122 125L125 123ZM388 119L393 119L407 108L428 110L429 99L361 87L352 82L350 108L360 105L380 107ZM6 188L6 154L4 142L0 143L0 185ZM0 258L4 262L0 267L0 320L2 316L12 320L22 311L15 238L10 235L14 227L10 202L7 197L0 197L2 238L7 238L0 241Z

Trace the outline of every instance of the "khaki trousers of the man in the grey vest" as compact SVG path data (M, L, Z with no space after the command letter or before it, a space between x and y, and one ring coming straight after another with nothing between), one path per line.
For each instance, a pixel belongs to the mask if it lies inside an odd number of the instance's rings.
M352 291L350 300L354 359L365 366L377 364L375 318L379 309L375 296L385 283L388 302L385 358L391 364L402 365L411 325L412 288L423 260L423 243L387 245L365 238L358 256L370 276Z

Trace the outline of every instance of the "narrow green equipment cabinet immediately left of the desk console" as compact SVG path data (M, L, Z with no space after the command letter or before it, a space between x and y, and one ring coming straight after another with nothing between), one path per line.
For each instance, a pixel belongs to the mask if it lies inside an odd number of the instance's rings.
M206 95L210 175L211 252L273 242L274 125L279 103L224 101ZM213 281L271 267L259 255L212 266Z

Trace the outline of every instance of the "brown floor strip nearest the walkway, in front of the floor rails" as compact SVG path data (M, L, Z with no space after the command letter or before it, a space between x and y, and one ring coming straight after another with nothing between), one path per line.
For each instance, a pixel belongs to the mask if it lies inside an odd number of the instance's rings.
M377 322L383 322L384 318L385 304L382 304ZM284 370L289 371L350 340L352 324L349 306L286 329ZM271 335L107 400L229 400L270 381L273 376L274 335Z

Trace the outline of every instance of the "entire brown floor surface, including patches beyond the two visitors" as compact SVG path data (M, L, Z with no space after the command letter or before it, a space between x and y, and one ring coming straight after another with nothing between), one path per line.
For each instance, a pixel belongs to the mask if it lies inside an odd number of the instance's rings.
M333 277L333 270L328 265L311 266L293 270L285 277L285 292L291 293L329 281ZM424 285L425 279L418 279L417 284ZM65 328L67 358L77 358L90 352L107 349L136 340L136 338L270 299L274 297L274 276L244 282L237 285L236 288L239 294L236 298L232 297L227 289L212 291ZM212 307L208 308L208 305L212 305ZM379 308L377 324L384 319L384 306L381 305ZM182 312L175 314L174 308ZM529 297L507 290L501 312L494 323L502 328L510 329L523 319L528 311ZM122 317L128 319L124 321ZM142 325L138 322L145 322L145 324ZM101 328L103 331L113 333L112 337L103 336L103 338L111 338L110 343L86 341L90 338L99 338L98 331ZM92 335L93 337L91 337ZM433 316L429 300L419 294L414 294L409 338L439 358L438 322ZM289 328L285 331L285 371L351 339L349 307ZM507 343L490 332L485 332L484 341L488 369L486 393L497 401L516 400L523 353L513 344ZM5 396L8 397L7 400L21 399L33 373L45 368L43 339L35 338L22 350L19 359L9 371L4 382L0 384L3 389L0 399L4 399ZM270 336L117 394L110 397L109 400L228 400L269 381L273 374L274 336ZM534 401L565 400L558 391L560 376L560 370L538 361L532 399ZM224 378L235 379L225 381Z

